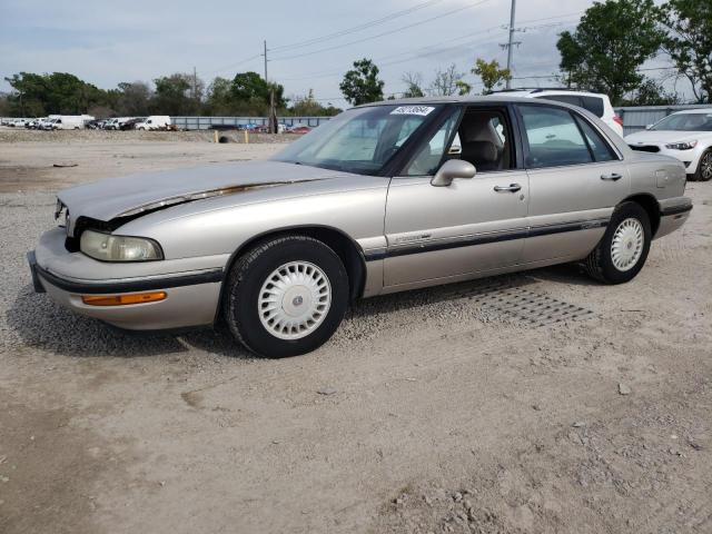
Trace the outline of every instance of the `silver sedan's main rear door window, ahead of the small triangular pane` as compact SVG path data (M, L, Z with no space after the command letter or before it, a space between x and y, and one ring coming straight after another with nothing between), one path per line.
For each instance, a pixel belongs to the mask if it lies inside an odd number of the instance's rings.
M557 167L593 161L586 141L568 111L521 105L520 112L528 142L525 161L527 167Z

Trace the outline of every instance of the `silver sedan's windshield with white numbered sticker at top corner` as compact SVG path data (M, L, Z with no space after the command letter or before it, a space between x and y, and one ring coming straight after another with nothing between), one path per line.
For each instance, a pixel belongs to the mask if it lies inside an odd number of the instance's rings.
M373 106L345 111L273 159L359 175L378 175L438 106Z

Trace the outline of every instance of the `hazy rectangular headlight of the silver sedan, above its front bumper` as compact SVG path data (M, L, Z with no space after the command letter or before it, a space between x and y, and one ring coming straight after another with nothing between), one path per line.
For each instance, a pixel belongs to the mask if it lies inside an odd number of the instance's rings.
M85 230L81 234L79 249L87 256L101 261L150 261L164 259L164 251L152 239L112 236L93 230Z

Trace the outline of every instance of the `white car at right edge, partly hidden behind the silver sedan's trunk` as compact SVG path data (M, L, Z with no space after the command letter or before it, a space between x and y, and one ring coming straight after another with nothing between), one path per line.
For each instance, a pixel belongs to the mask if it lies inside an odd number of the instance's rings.
M633 150L679 159L691 180L712 179L712 107L669 115L625 136L625 142Z

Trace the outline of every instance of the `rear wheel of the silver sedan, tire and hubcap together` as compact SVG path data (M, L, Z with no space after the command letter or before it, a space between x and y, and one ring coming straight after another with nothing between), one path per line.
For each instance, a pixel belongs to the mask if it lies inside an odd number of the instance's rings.
M645 265L651 240L645 209L636 202L623 202L615 208L603 238L584 260L584 269L604 284L630 281Z

